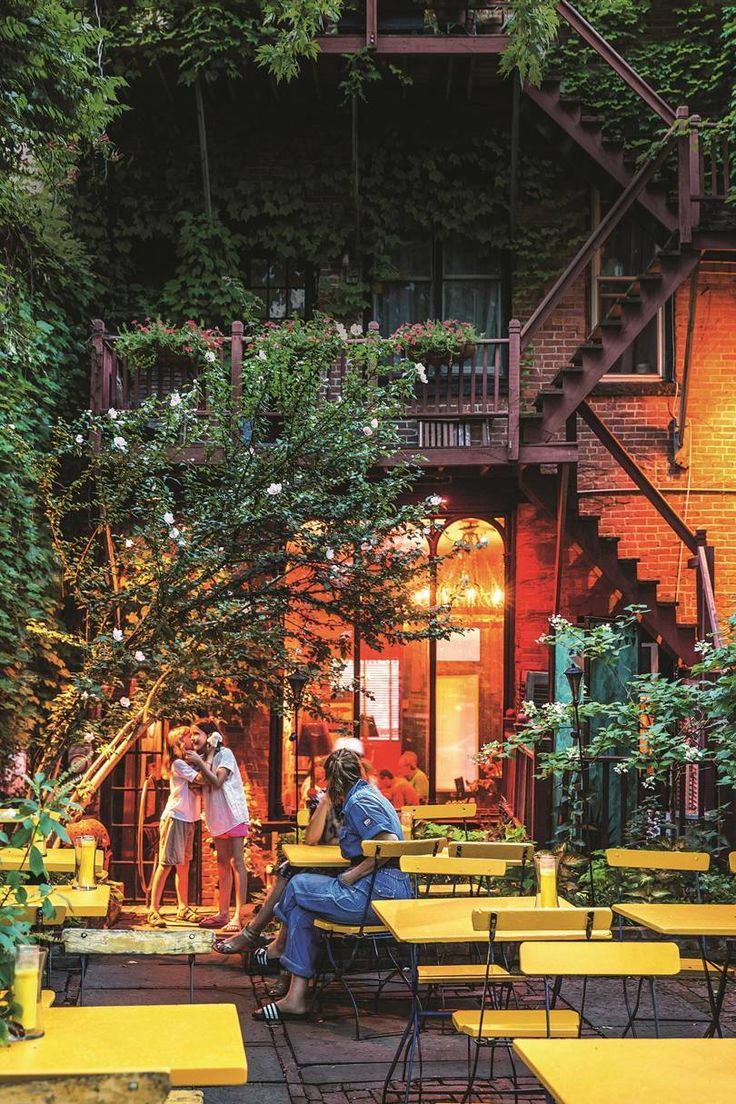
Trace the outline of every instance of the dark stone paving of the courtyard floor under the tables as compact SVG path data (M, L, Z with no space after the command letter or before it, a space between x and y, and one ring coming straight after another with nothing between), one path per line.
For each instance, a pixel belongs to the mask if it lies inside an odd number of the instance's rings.
M74 1004L78 995L78 963L56 955L53 985L57 1002ZM369 1038L355 1041L353 1019L342 992L328 992L321 1010L310 1021L269 1028L252 1020L252 1011L266 998L266 985L250 977L242 959L217 955L198 959L196 1000L230 1001L236 1005L248 1059L248 1084L239 1087L206 1089L205 1104L380 1104L383 1080L396 1049L398 1034L406 1022L406 989L399 983L382 1001L377 1012L366 994L363 1030ZM89 1005L179 1004L188 1000L185 960L151 958L97 958L87 974ZM524 994L526 989L526 994ZM567 983L565 994L575 1004L577 986ZM680 1017L683 1022L666 1023L663 1034L697 1036L707 1002L704 980L697 975L660 983L660 1013ZM522 987L521 999L540 994ZM626 1019L620 981L601 980L588 989L586 1006L589 1019L605 1033L618 1033L616 1026ZM643 1010L648 1015L648 1008ZM736 1033L736 984L730 987L724 1015L727 1034ZM651 1025L640 1029L651 1033ZM193 1040L206 1048L207 1040ZM459 1101L465 1090L466 1043L451 1030L435 1021L423 1036L423 1101ZM488 1100L488 1065L481 1068L481 1097ZM497 1060L493 1098L499 1090L510 1089L508 1058ZM391 1104L397 1101L391 1098ZM506 1100L512 1096L504 1097ZM529 1097L527 1097L529 1098ZM417 1100L413 1094L413 1100ZM542 1101L540 1094L535 1101ZM590 1104L595 1104L594 1101Z

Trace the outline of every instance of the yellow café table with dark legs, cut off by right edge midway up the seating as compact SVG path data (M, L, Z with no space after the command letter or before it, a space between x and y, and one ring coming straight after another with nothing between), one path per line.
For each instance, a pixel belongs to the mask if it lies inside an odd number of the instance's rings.
M732 957L732 942L736 940L736 904L615 904L614 912L634 924L641 924L658 935L694 936L697 940L703 960L705 985L711 1006L711 1022L706 1036L722 1034L721 1009L723 1008L728 969ZM723 938L726 942L726 954L723 963L716 964L719 972L718 987L714 991L711 980L708 962L713 955L708 953L707 941Z

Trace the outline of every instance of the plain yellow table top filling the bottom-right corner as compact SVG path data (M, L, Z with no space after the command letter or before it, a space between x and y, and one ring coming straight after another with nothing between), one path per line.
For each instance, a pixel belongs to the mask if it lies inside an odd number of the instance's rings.
M518 1039L557 1104L736 1100L736 1039Z

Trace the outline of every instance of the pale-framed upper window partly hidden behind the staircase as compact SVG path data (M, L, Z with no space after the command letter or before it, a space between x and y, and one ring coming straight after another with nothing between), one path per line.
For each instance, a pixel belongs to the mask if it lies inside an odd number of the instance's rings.
M594 222L605 213L600 197L594 197ZM651 233L636 219L623 219L599 251L593 264L590 321L593 328L606 318L637 276L647 270L657 251ZM672 302L659 310L626 352L609 369L609 376L666 376L672 361Z

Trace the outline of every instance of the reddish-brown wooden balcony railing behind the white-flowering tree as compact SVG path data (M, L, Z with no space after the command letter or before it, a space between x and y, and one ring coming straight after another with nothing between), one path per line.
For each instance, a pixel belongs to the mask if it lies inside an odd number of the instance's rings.
M374 327L374 323L371 323ZM350 347L326 378L326 395L337 395L348 370ZM131 370L116 350L117 336L102 321L93 325L90 408L137 410L148 399L163 400L190 386L196 367L183 357L161 357L140 371ZM230 368L233 394L242 388L243 358L248 339L243 323L233 322L220 351L223 368ZM520 323L512 320L508 337L482 338L460 358L430 360L426 383L419 382L401 422L406 448L495 449L505 458L519 457ZM201 414L205 416L206 397ZM489 457L491 459L491 457Z

